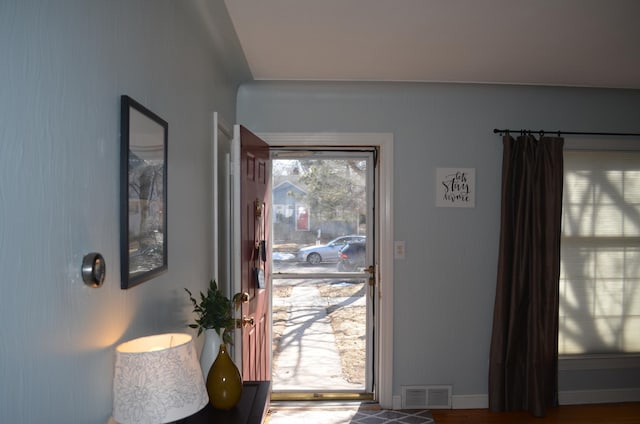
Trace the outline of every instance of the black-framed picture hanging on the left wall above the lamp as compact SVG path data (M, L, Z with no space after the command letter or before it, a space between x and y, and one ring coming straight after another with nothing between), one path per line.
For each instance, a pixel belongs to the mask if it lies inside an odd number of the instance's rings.
M122 289L167 270L169 124L120 98L120 274Z

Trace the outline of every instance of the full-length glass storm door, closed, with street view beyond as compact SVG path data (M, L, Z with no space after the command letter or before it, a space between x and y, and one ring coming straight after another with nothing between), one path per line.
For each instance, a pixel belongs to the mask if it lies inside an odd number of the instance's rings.
M272 399L371 399L376 150L271 158Z

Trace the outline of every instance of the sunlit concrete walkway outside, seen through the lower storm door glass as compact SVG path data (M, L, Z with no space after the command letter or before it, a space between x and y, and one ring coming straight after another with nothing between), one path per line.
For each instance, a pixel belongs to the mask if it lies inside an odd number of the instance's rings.
M276 391L362 390L362 384L342 376L340 353L327 317L327 307L345 298L322 298L315 286L297 285L290 297L273 298L274 306L288 306L289 319L273 363ZM358 299L353 305L364 304Z

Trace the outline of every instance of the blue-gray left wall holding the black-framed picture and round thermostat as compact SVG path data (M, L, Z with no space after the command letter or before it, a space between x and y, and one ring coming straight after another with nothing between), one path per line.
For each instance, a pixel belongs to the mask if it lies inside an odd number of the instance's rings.
M211 112L234 121L248 73L239 50L216 52L235 37L221 5L0 2L0 422L105 423L114 347L191 332L182 288L207 285L213 254ZM121 94L169 122L169 270L126 291ZM100 289L80 277L91 251L107 264Z

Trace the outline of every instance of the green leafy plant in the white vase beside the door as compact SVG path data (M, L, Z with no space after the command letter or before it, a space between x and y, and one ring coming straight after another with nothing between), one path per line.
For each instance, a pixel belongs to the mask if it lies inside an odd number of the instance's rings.
M189 289L184 289L189 294L189 300L193 304L193 312L196 314L195 323L189 324L190 328L198 329L198 336L204 330L213 329L222 336L226 344L232 342L231 335L236 326L233 317L233 302L219 289L215 280L211 280L207 294L200 292L200 303L193 297ZM234 301L235 301L234 296ZM224 333L220 334L224 330Z

